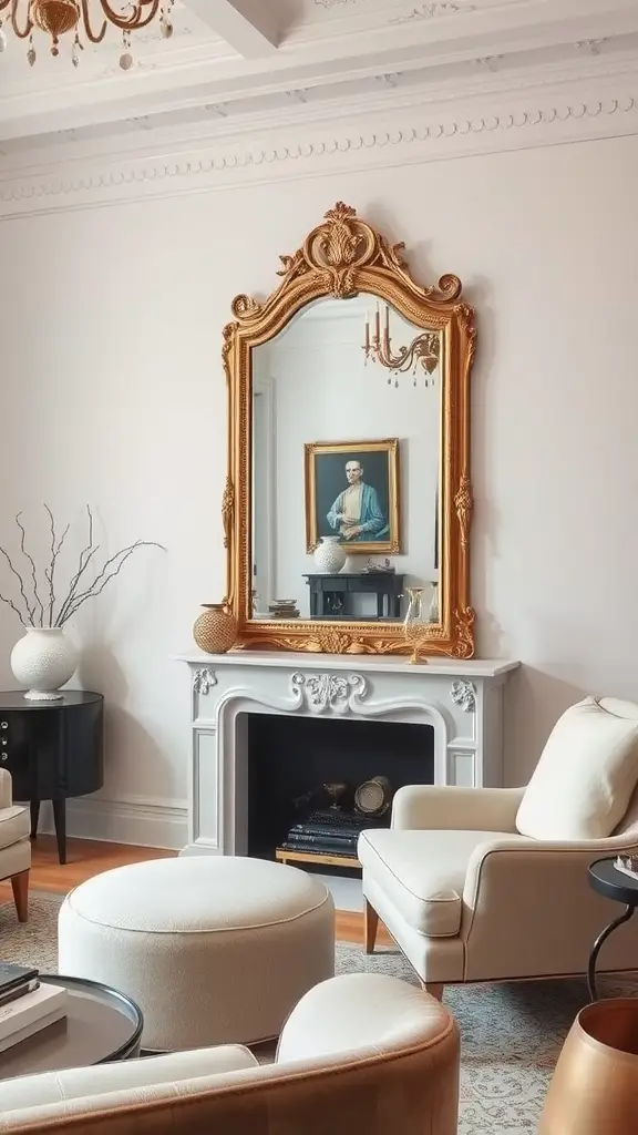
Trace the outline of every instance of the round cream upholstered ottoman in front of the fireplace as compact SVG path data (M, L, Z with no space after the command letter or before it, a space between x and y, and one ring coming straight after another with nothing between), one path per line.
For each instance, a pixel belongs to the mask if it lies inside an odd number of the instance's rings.
M333 899L265 859L154 859L96 875L65 899L58 972L111 985L169 1051L277 1036L335 972Z

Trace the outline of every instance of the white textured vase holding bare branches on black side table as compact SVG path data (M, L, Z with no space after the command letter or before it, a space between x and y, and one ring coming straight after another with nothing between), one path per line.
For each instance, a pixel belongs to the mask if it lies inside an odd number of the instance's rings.
M28 687L25 698L32 701L64 697L60 686L73 678L76 666L77 649L60 627L27 627L11 650L14 678Z

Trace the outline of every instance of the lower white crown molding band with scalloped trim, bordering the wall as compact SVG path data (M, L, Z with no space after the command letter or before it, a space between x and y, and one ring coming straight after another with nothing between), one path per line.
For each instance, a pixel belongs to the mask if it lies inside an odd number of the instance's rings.
M343 119L342 119L343 121ZM0 176L0 220L638 134L638 76L471 104L401 108L249 138L167 143Z

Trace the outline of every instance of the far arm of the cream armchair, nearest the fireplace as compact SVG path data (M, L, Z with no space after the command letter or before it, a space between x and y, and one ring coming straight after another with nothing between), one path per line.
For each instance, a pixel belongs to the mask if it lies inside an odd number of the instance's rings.
M515 832L522 788L453 788L409 784L392 806L392 826Z

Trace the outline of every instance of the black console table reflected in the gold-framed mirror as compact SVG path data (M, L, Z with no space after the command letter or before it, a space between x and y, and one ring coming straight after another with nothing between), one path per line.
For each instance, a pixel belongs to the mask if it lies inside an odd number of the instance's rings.
M404 575L395 572L337 572L305 575L311 619L352 619L352 596L373 595L377 614L370 619L400 619ZM361 619L361 615L356 616Z

